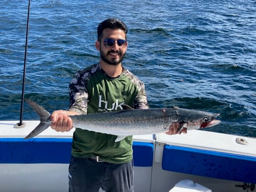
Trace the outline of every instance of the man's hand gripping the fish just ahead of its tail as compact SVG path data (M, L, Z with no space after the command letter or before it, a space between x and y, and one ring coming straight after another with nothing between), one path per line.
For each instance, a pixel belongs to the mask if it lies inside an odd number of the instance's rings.
M72 119L68 117L71 111L58 110L53 111L51 115L51 127L56 131L70 131L72 127ZM72 114L75 115L75 114Z

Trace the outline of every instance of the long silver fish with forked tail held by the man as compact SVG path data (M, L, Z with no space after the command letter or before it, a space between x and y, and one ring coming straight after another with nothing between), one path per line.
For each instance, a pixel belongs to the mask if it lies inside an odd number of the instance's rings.
M51 114L36 102L24 99L40 116L40 124L24 139L31 139L51 126ZM215 118L220 114L206 111L173 108L132 109L122 105L122 110L101 112L87 115L73 115L72 126L77 129L116 135L115 142L129 135L147 135L168 132L173 122L179 122L177 132L184 128L188 130L204 129L215 126L220 120Z

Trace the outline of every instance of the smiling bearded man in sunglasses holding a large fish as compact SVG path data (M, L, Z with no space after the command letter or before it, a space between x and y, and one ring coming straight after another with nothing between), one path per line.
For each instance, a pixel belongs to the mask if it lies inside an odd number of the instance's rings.
M101 22L95 43L100 62L78 71L70 82L70 108L54 111L52 129L70 131L71 115L122 110L121 104L148 109L144 83L121 65L127 50L127 27L119 19ZM176 134L179 124L167 134ZM186 129L183 130L186 132ZM132 136L116 136L76 128L69 166L69 191L133 191Z

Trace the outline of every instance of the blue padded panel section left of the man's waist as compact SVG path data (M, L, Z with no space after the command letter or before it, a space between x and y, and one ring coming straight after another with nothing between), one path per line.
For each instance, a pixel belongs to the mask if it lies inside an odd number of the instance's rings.
M60 163L70 162L72 139L22 138L0 139L0 163Z

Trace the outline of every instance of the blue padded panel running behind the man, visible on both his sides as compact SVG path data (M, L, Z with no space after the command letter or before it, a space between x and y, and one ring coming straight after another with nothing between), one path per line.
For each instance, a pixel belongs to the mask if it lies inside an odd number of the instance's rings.
M0 163L68 164L72 139L68 138L0 138ZM134 166L152 166L154 145L134 141Z

